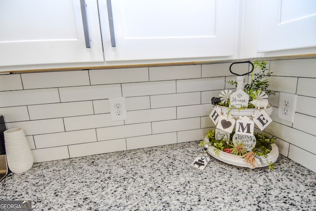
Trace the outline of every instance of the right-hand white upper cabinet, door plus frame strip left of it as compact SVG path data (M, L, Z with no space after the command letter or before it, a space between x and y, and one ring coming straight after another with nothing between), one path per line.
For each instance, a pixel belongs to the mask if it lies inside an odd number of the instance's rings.
M245 0L242 57L316 53L315 0Z

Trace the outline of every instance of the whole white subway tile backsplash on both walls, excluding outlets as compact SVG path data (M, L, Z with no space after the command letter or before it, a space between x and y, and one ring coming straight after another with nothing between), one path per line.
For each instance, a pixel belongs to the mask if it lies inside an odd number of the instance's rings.
M235 89L225 82L236 80L231 64L0 75L0 114L8 129L24 129L35 162L201 140L215 127L211 98ZM233 70L245 72L242 65ZM278 93L269 96L274 122L266 128L280 154L310 169L315 66L316 58L271 61L270 88L298 98L292 124L277 118ZM127 120L112 122L109 98L120 96L126 97Z

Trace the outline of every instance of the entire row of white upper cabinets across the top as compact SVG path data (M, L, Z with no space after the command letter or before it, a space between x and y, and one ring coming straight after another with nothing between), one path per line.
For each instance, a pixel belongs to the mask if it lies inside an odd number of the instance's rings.
M316 0L82 1L0 0L0 71L316 53Z

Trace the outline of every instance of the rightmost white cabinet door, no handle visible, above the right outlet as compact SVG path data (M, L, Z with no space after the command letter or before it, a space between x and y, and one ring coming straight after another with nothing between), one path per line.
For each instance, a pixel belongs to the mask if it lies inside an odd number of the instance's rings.
M316 46L316 0L260 0L258 52Z

